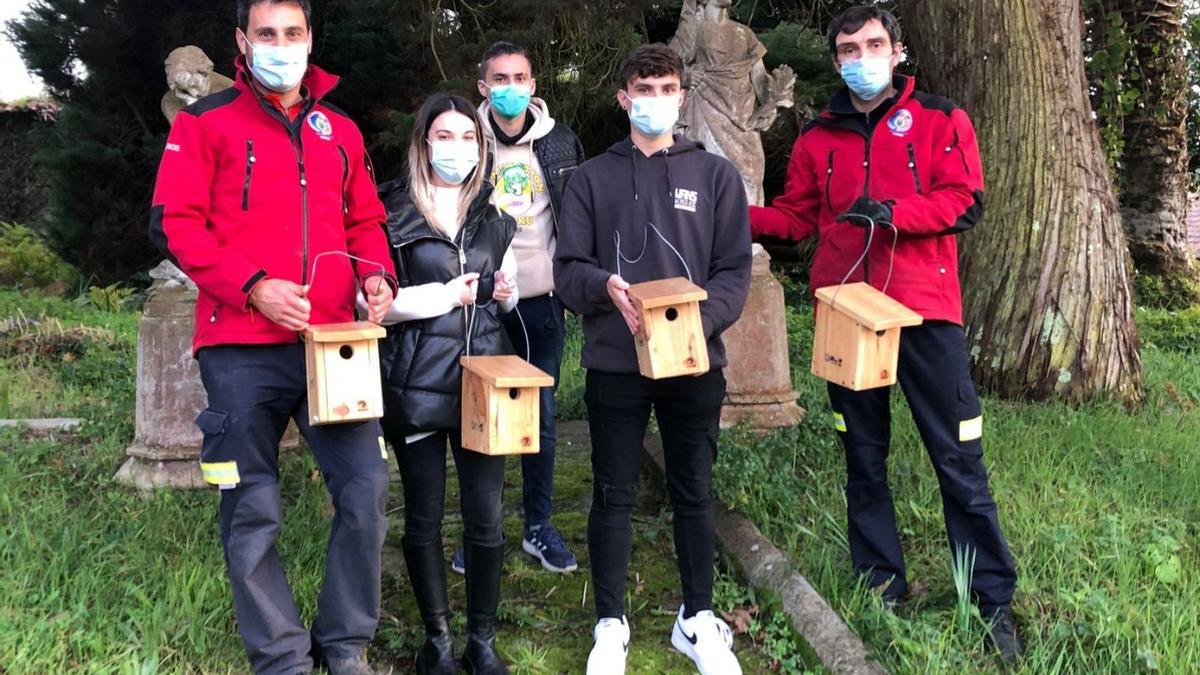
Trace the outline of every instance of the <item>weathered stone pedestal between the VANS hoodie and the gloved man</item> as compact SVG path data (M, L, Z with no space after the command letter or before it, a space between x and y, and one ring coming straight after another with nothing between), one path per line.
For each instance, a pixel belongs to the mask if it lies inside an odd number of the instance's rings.
M722 335L728 386L721 407L721 428L749 420L754 429L793 426L804 419L796 404L787 357L784 287L770 274L770 256L754 245L750 297L742 318Z

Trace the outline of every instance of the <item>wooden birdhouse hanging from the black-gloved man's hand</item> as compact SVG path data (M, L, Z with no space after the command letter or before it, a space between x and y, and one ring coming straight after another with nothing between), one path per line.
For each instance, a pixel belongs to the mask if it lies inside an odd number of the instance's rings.
M920 315L869 283L817 288L812 374L854 392L896 382L900 329Z

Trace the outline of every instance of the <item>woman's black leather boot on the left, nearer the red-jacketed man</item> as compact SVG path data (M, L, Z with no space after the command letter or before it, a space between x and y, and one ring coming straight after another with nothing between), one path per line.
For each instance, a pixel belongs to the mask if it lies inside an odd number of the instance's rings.
M450 635L450 601L446 598L442 546L414 546L404 542L403 548L416 608L425 623L425 644L416 653L416 671L421 675L454 675L454 638Z

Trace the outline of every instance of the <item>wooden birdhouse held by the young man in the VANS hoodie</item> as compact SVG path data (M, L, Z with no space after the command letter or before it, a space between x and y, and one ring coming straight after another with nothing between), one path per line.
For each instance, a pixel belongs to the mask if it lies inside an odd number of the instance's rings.
M642 315L634 336L637 369L650 380L708 372L700 303L708 292L683 277L635 283L629 297Z

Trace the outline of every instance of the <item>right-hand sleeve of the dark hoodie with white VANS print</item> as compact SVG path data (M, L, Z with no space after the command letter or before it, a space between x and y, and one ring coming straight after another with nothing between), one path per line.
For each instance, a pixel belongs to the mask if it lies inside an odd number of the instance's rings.
M745 187L732 165L716 177L713 213L713 259L708 265L708 300L700 304L704 336L714 338L733 325L750 293L750 208Z

